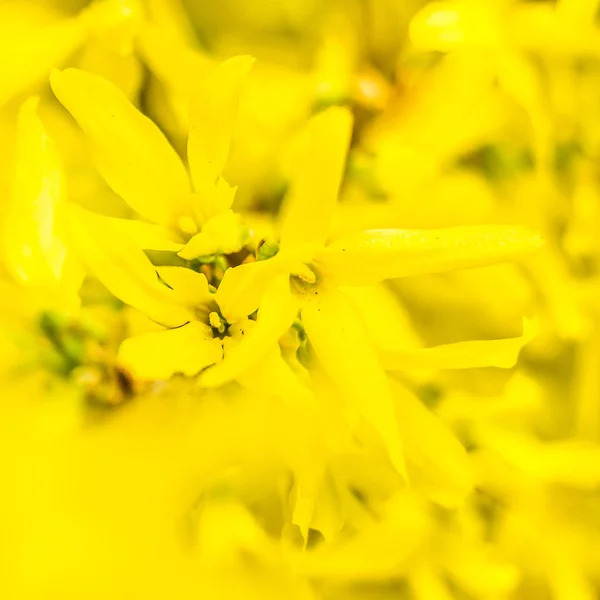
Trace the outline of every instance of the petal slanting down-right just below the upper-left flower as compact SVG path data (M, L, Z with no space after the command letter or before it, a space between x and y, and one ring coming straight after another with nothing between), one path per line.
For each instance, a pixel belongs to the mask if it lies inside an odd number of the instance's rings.
M110 217L78 207L69 211L69 234L87 268L117 298L163 325L179 326L193 315L179 306L173 292L160 283L146 255Z

